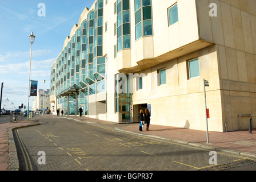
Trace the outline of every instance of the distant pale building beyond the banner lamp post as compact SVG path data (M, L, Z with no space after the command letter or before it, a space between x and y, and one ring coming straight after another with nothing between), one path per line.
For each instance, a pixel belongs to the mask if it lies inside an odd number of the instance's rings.
M45 109L50 109L50 89L45 90ZM43 110L43 89L39 89L34 97L33 110Z

